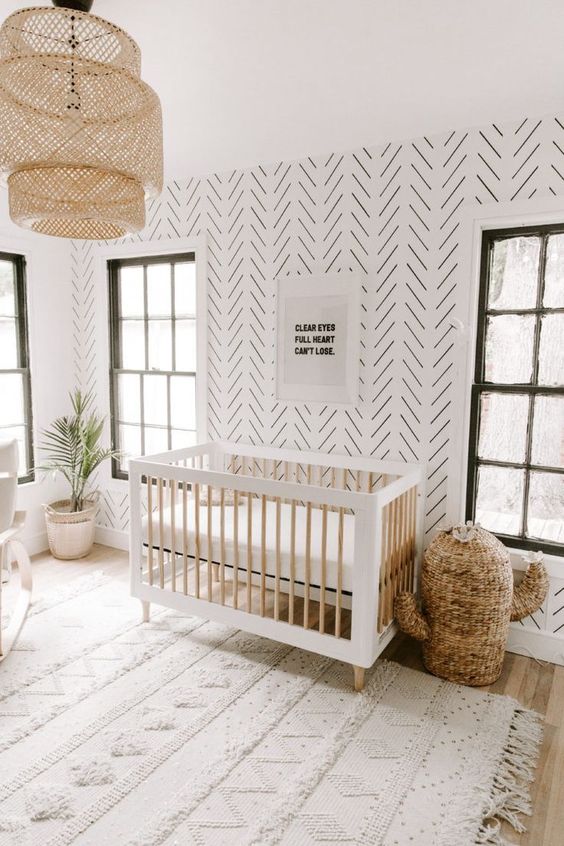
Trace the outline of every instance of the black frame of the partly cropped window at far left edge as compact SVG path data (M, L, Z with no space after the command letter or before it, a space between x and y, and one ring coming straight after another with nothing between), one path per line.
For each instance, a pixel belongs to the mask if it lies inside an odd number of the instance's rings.
M31 404L26 259L25 256L18 253L0 252L0 261L9 261L14 266L18 366L2 367L2 363L0 362L0 373L19 373L23 376L24 428L28 467L22 476L18 476L18 484L25 485L35 481L35 472L33 469L33 409ZM0 435L2 431L3 429L0 428Z

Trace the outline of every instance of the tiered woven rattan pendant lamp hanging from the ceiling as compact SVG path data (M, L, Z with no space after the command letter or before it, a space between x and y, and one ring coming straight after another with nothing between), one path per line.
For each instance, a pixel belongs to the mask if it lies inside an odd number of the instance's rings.
M20 9L0 27L0 172L18 225L108 240L142 229L162 189L162 118L139 47L91 5Z

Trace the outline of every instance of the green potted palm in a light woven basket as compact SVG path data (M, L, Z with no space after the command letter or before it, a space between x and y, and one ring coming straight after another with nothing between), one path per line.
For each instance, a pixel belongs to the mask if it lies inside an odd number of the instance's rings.
M92 393L76 389L70 394L73 413L57 417L42 432L40 449L46 460L39 470L60 473L69 484L69 499L44 505L49 549L55 558L83 558L94 543L98 492L92 475L107 458L117 457L101 446L104 418L92 408Z

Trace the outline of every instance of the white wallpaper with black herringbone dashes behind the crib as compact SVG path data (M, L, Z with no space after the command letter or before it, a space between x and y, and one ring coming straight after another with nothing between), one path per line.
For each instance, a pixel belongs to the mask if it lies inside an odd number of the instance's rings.
M169 183L139 238L207 235L210 436L424 460L432 531L458 423L448 318L468 285L462 210L564 194L563 174L564 122L544 118ZM106 396L98 249L73 245L74 352L77 380ZM349 269L363 280L358 406L277 403L274 279ZM123 492L101 519L126 528Z

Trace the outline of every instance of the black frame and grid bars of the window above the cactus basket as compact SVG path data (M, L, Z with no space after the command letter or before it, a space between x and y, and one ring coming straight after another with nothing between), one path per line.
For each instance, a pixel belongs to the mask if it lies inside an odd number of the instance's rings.
M529 499L529 484L531 471L556 473L564 476L564 468L547 467L531 463L531 448L533 436L533 418L535 396L564 396L564 386L549 386L538 384L539 368L539 347L541 319L546 314L564 313L562 308L547 308L543 306L546 271L546 246L551 235L563 235L564 223L546 224L542 226L508 227L503 229L489 229L482 232L482 246L480 258L480 291L478 300L478 325L476 334L476 357L474 365L474 378L472 383L472 396L470 407L470 438L468 445L468 475L466 486L466 519L474 520L476 514L476 494L478 481L478 468L480 466L509 467L524 469L525 481L523 488L523 504L521 511L521 534L507 535L495 532L504 544L523 550L542 550L545 553L562 556L564 544L555 541L531 538L526 536L527 511ZM537 300L534 308L531 309L488 309L489 277L491 258L496 241L508 238L538 236L541 237L541 250L539 256L539 270L537 278ZM530 383L503 384L498 382L485 381L485 351L486 351L486 330L488 317L501 314L527 314L535 317L534 346L533 346L533 372ZM494 461L478 458L478 440L480 434L480 397L483 393L515 393L529 396L529 411L527 418L526 452L524 462Z

